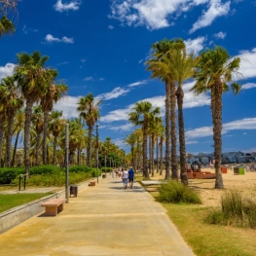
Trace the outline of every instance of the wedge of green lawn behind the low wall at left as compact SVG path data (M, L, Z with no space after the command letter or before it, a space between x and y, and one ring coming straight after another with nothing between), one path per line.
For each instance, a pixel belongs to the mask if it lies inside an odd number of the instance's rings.
M14 208L29 201L44 198L48 195L51 195L51 193L0 195L0 212Z

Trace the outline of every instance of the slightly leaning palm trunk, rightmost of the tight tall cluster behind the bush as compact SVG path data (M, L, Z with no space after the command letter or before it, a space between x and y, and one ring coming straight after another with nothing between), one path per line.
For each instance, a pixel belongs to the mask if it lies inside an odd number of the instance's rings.
M184 118L183 118L183 97L184 93L181 86L176 91L178 104L178 119L179 119L179 154L180 154L180 178L184 185L188 185L188 176L186 168L186 147L185 147L185 132L184 132Z

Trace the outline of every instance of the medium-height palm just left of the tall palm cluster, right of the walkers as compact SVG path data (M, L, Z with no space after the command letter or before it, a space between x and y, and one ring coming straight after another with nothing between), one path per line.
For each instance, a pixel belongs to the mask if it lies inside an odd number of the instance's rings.
M141 126L143 131L143 167L146 179L149 179L147 168L147 136L150 122L153 122L160 115L160 108L153 107L149 101L135 103L132 112L128 114L129 121L135 126Z

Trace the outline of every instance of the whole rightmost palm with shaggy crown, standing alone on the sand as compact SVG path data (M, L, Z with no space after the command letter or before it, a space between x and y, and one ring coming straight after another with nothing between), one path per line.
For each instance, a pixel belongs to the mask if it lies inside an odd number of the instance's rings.
M232 60L227 50L215 46L214 50L206 49L201 53L197 64L196 85L192 91L200 94L204 91L210 91L213 124L213 141L215 157L215 188L223 189L223 179L221 172L221 153L222 153L222 93L229 90L227 83L232 82L232 90L238 94L240 86L234 82L235 76L241 76L238 73L240 58L235 57Z

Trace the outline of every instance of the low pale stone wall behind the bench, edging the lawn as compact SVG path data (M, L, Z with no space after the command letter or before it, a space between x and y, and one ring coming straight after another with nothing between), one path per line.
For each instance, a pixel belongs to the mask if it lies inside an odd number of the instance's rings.
M85 181L78 184L78 192L84 190L88 187L90 181ZM19 205L10 210L6 210L0 213L0 234L12 229L17 226L19 223L33 217L40 212L44 212L44 207L41 206L41 203L49 201L51 199L64 199L65 190L57 192L53 195L44 197L37 201L30 201L28 203Z

